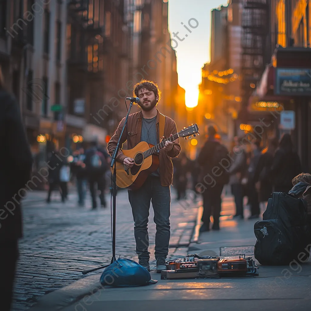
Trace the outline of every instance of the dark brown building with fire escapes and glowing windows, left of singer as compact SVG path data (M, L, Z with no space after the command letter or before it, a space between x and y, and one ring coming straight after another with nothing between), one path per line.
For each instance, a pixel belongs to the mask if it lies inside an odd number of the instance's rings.
M103 79L107 46L104 42L104 13L104 0L71 0L68 3L67 68L70 114L79 115L74 107L75 99L86 99L89 93L92 95L92 82ZM85 103L85 116L89 115L88 106Z

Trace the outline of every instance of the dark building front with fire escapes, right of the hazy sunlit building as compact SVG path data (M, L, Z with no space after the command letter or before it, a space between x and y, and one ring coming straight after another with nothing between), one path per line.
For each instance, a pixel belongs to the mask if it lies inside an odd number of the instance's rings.
M242 94L240 119L247 118L247 105L266 65L269 0L244 0L242 15Z

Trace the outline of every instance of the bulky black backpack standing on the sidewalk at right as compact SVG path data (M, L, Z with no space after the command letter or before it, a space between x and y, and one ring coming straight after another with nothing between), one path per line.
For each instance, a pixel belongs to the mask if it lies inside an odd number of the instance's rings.
M310 233L307 204L288 193L274 192L263 220L254 224L254 256L262 265L288 265L309 258ZM304 253L305 255L298 257Z

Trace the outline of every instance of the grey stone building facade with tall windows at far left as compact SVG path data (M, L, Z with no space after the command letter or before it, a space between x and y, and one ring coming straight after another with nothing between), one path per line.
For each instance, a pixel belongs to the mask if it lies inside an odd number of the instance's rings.
M65 1L1 2L0 63L20 104L37 166L64 143L66 108Z

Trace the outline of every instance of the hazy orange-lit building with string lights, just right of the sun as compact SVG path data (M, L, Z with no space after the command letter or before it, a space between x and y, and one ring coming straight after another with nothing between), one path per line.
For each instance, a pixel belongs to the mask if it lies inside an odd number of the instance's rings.
M229 146L237 133L237 116L242 101L242 1L211 11L211 60L202 68L197 109L206 138L208 125L216 125Z

